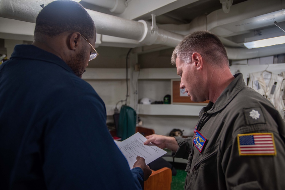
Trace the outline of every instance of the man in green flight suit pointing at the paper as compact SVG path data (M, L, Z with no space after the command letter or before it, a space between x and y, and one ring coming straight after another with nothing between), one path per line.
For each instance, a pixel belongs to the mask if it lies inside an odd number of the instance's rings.
M147 136L188 159L185 189L285 189L285 124L273 105L232 75L227 52L207 31L187 36L173 51L180 88L192 101L210 100L193 137Z

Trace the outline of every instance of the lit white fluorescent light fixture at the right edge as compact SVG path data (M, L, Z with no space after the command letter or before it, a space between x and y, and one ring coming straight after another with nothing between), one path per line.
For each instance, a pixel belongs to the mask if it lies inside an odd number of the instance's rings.
M248 49L261 48L261 47L273 46L273 45L278 45L278 44L285 44L285 36L278 36L274 38L256 40L253 42L245 42L243 44Z

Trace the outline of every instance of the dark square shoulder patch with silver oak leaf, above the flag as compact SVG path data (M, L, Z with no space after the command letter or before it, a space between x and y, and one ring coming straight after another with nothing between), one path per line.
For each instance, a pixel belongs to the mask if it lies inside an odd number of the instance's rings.
M244 108L243 114L246 124L265 123L265 119L260 107Z

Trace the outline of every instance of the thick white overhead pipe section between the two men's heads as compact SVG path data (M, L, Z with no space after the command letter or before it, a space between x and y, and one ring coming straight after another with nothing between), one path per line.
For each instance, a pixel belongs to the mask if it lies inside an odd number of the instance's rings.
M86 11L94 20L96 32L99 34L133 39L145 45L161 44L173 47L184 38L183 35L160 29L156 24L153 29L151 23L144 20L132 21L89 9Z

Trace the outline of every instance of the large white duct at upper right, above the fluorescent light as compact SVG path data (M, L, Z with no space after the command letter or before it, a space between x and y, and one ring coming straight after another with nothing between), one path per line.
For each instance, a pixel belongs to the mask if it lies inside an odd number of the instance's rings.
M248 0L232 5L229 13L219 9L207 16L198 16L189 24L163 24L159 27L184 35L202 29L228 37L255 28L272 26L274 21L285 21L285 7L281 4L281 0Z

